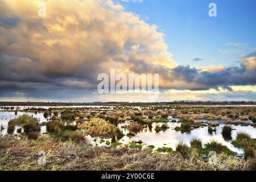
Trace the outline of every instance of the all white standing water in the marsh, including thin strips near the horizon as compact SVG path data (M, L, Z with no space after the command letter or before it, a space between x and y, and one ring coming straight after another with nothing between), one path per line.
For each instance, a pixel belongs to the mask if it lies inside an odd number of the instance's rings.
M102 107L113 109L113 106L80 106L76 108L93 108L93 109L100 109ZM151 106L152 107L152 106ZM3 107L1 107L3 109ZM28 107L28 106L17 106L14 107L16 110L26 110L28 108L42 108L42 107ZM44 109L49 109L50 107L44 106ZM57 109L56 107L55 109ZM134 109L134 108L133 108ZM141 109L139 107L135 107L135 109ZM48 122L51 120L51 117L53 116L53 113L47 115L47 117L44 116L44 113L42 112L30 112L30 111L0 111L0 126L1 131L0 135L5 136L7 135L7 127L10 119L18 118L20 115L29 115L30 117L38 118L39 123ZM57 117L61 117L61 114L58 113ZM173 122L176 121L176 122ZM176 131L175 127L180 127L181 122L179 118L173 118L172 115L169 114L168 116L168 122L164 123L152 123L150 127L148 125L144 125L143 129L135 133L135 136L127 137L127 134L130 133L129 129L127 129L126 126L130 125L130 121L123 121L122 123L118 123L117 127L121 130L121 132L125 135L122 139L119 139L119 142L122 143L122 145L129 144L131 142L139 142L142 141L142 146L154 146L155 148L158 147L171 147L174 150L176 149L176 145L178 143L184 143L188 146L190 145L190 141L192 139L201 139L202 144L206 144L212 140L215 140L225 146L227 146L230 150L237 152L237 155L243 154L242 148L236 148L232 145L232 139L236 138L236 135L238 132L245 132L249 134L252 138L256 138L256 129L253 126L247 125L247 126L241 126L241 125L229 125L232 127L232 133L231 138L226 139L222 136L221 131L222 127L225 126L226 121L212 121L207 119L201 119L200 122L202 124L205 124L205 126L200 126L197 128L193 128L189 132L181 133L180 131ZM250 120L245 121L248 124L252 123ZM215 131L212 133L209 133L208 131L208 123L218 123L218 126L215 127ZM168 126L168 129L165 131L156 132L155 128L156 126L166 125ZM16 129L18 127L15 127L14 135L17 134ZM46 126L40 126L40 135L43 135L44 133L47 133ZM94 146L106 146L105 143L100 142L99 138L92 138L90 135L86 135L86 139L90 143L92 143ZM105 139L108 140L108 139Z

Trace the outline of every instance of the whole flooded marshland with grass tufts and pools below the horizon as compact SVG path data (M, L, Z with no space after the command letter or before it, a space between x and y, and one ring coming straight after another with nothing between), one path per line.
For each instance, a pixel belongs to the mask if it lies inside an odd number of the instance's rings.
M83 165L93 156L93 163L102 159L97 167L105 160L113 166L130 159L147 165L155 159L175 169L180 164L212 169L205 162L215 151L223 164L216 169L252 169L255 113L256 107L245 105L0 106L0 145L5 148L2 155L8 156L0 158L0 167L8 160L16 168L13 162L21 155L33 163L31 156L37 159L44 148L48 158L54 156L53 168L65 166L74 156L81 157L78 165Z

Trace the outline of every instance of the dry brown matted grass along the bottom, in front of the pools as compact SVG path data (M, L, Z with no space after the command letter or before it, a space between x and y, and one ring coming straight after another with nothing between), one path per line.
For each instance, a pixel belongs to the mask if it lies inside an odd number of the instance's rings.
M46 166L38 165L39 151L46 152ZM92 147L85 141L0 137L0 170L251 170L254 166L254 159L226 155L219 155L218 164L211 166L197 155L158 154L150 147Z

